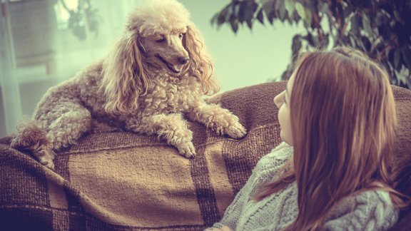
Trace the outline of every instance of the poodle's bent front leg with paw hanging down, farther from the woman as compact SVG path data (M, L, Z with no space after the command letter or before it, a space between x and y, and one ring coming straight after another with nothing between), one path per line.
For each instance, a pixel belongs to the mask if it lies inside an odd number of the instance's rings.
M179 113L156 114L141 120L126 120L126 129L148 135L157 134L166 139L167 143L175 146L178 153L186 158L193 158L196 149L193 145L193 133L188 129L187 121Z

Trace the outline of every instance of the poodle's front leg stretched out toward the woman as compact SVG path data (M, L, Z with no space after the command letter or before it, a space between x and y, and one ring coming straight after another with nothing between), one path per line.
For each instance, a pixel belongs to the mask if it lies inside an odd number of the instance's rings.
M243 138L246 130L240 124L239 119L225 108L215 104L207 104L199 101L188 112L191 120L204 123L207 128L215 130L220 135L228 135L231 138Z

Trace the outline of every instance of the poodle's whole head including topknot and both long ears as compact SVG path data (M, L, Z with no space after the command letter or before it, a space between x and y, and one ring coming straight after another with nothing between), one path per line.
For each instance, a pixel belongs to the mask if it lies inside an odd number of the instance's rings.
M218 91L213 61L190 21L188 10L176 0L143 0L128 16L126 29L103 64L102 86L108 113L131 113L138 96L146 93L148 70L180 78L198 78L203 93Z

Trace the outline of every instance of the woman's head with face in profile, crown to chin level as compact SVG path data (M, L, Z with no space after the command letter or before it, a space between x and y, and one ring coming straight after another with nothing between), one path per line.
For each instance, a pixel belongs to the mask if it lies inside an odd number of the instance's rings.
M377 63L359 51L338 47L305 53L295 66L285 91L274 98L283 141L313 143L307 140L312 135L317 135L315 140L362 138L358 132L367 133L365 126L372 124L367 129L381 131L378 140L388 139L377 143L390 143L395 101L387 73Z

